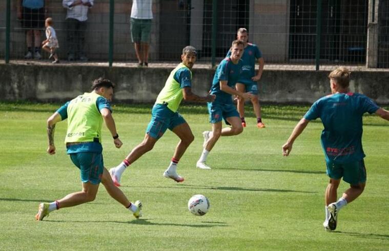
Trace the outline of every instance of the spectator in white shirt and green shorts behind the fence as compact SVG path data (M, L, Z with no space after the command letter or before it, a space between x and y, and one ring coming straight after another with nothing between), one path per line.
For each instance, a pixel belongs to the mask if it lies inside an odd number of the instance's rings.
M153 0L133 0L131 7L131 40L135 46L138 66L149 66L149 43Z

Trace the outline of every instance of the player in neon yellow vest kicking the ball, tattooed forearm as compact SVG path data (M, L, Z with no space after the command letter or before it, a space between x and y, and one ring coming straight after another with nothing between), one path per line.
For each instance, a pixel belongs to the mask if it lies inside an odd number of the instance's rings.
M38 213L35 216L36 220L43 220L50 212L59 208L93 201L100 182L103 183L108 194L127 207L135 218L142 215L142 203L139 200L131 203L113 184L107 169L104 168L103 155L101 154L103 151L101 146L103 121L112 134L115 147L120 148L122 145L111 115L110 101L113 88L114 84L110 80L98 78L93 81L91 93L84 93L65 103L47 120L47 135L49 137L47 152L52 155L55 154L55 124L68 119L68 131L65 137L67 153L80 170L83 188L80 192L68 194L60 200L40 203Z

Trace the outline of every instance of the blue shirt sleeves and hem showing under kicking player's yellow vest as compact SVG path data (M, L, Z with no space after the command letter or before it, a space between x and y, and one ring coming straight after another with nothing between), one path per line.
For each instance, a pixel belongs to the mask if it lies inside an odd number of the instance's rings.
M68 118L68 105L69 102L66 102L62 107L57 110L57 113L61 116L62 120ZM101 111L103 108L107 108L112 112L111 103L105 97L98 97L96 100L96 107L98 111ZM92 152L92 153L101 153L103 152L103 147L100 142L85 142L74 145L69 145L66 147L66 153L81 153L81 152Z

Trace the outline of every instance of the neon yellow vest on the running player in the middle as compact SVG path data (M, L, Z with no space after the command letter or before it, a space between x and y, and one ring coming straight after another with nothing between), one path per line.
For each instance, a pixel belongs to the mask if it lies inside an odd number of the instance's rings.
M182 90L180 87L180 83L174 79L174 74L181 68L187 68L184 64L179 64L169 75L168 80L166 80L165 87L159 93L157 100L155 103L162 104L163 102L168 103L168 108L173 112L176 112L181 100L182 100ZM191 72L192 79L192 72Z

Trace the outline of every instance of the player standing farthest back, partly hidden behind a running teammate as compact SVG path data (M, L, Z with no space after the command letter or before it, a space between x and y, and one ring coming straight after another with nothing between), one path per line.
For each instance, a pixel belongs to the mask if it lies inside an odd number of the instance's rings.
M258 46L248 43L249 34L245 28L238 29L236 38L243 41L243 55L242 55L242 73L235 85L236 90L239 92L250 92L253 95L251 102L253 103L254 113L257 116L257 127L264 128L265 124L262 122L261 117L261 105L258 99L258 86L257 81L261 79L263 66L265 61L262 57L262 52L258 49ZM231 55L231 51L228 51L227 57ZM255 74L255 62L258 62L258 73ZM242 126L246 127L246 121L244 119L244 98L238 97L238 112Z

